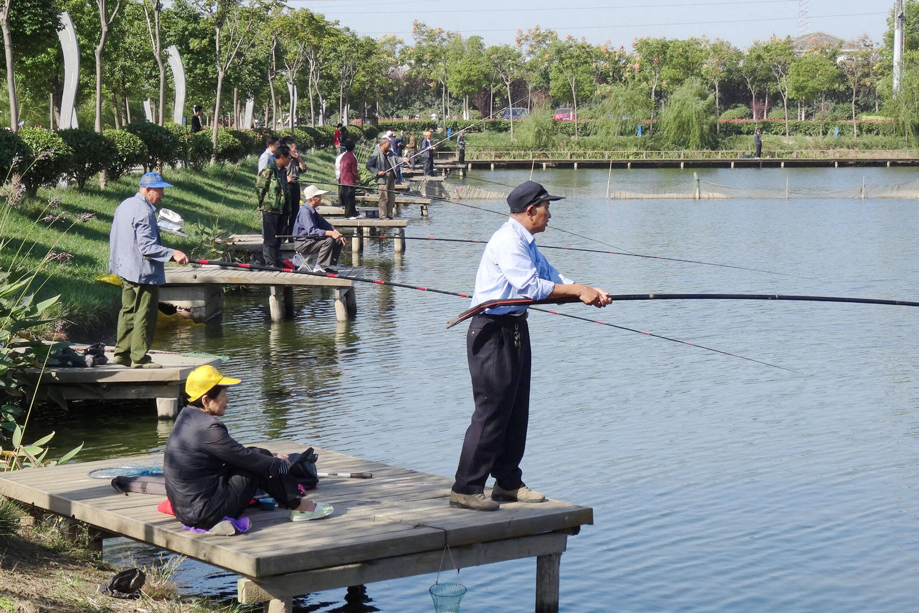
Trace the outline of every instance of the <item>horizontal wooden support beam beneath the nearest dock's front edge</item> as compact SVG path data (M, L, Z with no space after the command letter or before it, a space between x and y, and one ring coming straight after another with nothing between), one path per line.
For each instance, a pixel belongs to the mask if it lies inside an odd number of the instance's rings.
M475 543L466 547L450 548L452 562L459 568L506 562L519 558L560 555L565 551L567 536L564 534L541 534L523 539L504 539L488 543ZM446 559L445 559L446 558ZM444 564L444 568L441 568ZM306 573L292 573L260 579L257 582L243 578L237 583L237 598L240 604L264 602L272 595L301 596L311 592L364 585L410 577L416 574L452 571L451 558L443 551L428 551L421 554L382 558L370 562L357 562Z

